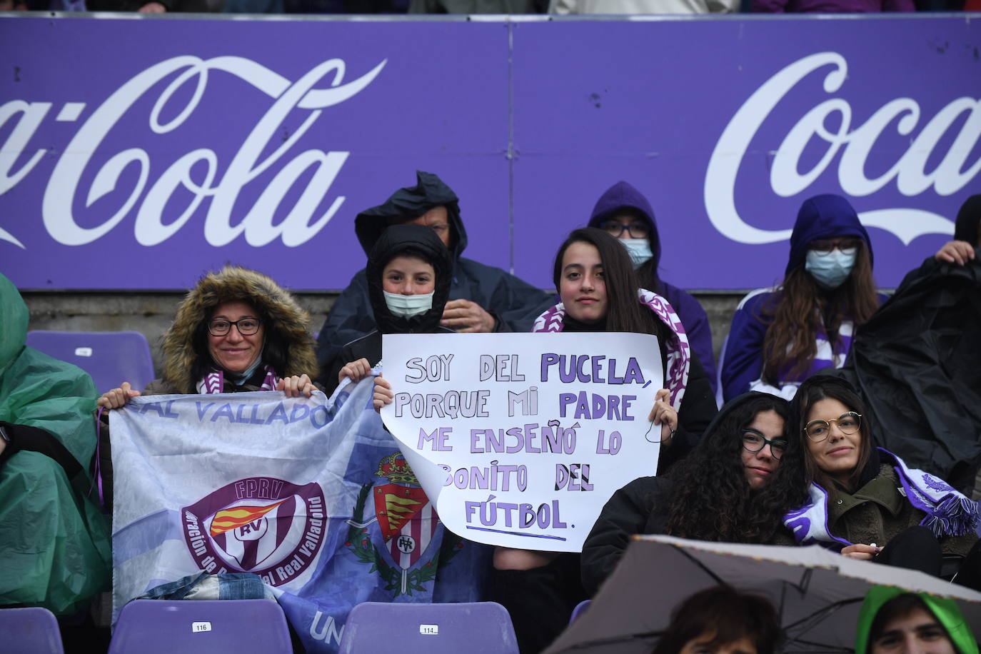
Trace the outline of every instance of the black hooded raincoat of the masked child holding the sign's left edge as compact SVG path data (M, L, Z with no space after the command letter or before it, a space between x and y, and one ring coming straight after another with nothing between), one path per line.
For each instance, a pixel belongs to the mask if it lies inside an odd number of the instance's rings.
M382 288L382 273L389 261L399 255L421 257L433 266L436 288L433 291L433 307L424 314L405 318L396 316L388 309ZM452 329L440 327L442 308L449 297L452 264L449 251L433 229L419 225L394 225L388 227L375 242L368 255L365 269L368 280L368 297L376 327L364 336L352 340L340 348L340 353L324 377L329 393L337 387L337 374L346 364L367 359L372 368L382 361L382 335L386 333L435 333Z

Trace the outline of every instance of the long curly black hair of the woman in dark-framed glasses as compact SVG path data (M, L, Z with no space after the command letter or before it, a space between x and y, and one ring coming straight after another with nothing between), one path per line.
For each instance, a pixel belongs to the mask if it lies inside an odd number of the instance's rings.
M665 533L715 542L768 542L784 514L803 504L800 443L793 439L766 486L752 490L747 483L743 430L766 411L783 418L785 430L790 425L787 400L768 393L741 395L722 408L698 447L669 474L670 497L659 498L670 502Z

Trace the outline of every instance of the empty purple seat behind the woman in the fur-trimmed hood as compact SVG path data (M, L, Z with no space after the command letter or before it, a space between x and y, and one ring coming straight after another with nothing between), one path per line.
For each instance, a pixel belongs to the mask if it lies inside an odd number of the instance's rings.
M129 381L136 390L153 380L146 337L138 331L28 331L27 345L75 364L100 393Z

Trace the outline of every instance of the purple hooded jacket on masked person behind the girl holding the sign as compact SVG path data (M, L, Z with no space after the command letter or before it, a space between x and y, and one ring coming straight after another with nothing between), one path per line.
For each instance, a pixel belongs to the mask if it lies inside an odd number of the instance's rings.
M657 233L657 223L654 222L654 210L647 202L644 194L626 181L618 181L599 196L590 216L591 227L598 227L604 221L616 218L621 214L630 214L647 225L647 241L650 244L650 259L637 269L641 286L652 290L665 298L674 307L685 326L688 341L698 356L698 362L705 371L712 392L718 383L715 373L715 358L712 355L712 330L708 316L698 301L687 291L673 286L657 275L661 260L661 239Z

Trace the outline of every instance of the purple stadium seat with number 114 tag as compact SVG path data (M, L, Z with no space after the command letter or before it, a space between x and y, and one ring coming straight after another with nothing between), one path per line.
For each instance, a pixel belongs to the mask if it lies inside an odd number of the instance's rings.
M517 654L518 641L507 609L496 602L365 602L355 606L344 623L341 654L388 650L398 654Z

